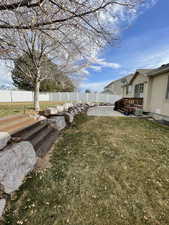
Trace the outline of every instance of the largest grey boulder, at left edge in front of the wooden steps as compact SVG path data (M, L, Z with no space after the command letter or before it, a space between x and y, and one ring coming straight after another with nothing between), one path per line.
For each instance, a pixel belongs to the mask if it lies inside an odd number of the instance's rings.
M22 184L25 176L33 170L37 158L30 142L10 145L0 152L0 184L10 194Z

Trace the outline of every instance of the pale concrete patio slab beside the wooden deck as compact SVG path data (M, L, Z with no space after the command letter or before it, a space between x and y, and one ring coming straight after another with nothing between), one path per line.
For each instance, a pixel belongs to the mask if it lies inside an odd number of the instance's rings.
M96 106L90 108L88 116L124 116L122 113L114 111L114 106Z

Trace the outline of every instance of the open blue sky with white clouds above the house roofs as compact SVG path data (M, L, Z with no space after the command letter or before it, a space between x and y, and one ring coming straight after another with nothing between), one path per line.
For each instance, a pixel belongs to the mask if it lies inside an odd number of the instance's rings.
M154 68L169 63L169 1L158 0L153 7L140 13L130 26L121 32L114 46L107 46L100 55L119 68L89 69L81 89L101 91L103 87L139 68Z

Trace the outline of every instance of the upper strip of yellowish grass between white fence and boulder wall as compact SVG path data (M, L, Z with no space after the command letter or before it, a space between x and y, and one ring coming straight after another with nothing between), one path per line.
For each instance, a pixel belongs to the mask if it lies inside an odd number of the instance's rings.
M48 106L56 106L63 104L62 102L40 102L41 110ZM14 102L14 103L0 103L0 117L10 116L15 114L22 114L33 112L33 103L30 102Z

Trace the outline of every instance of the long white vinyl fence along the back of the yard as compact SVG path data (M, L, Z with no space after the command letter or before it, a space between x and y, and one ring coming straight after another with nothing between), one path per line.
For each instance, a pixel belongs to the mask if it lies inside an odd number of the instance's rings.
M105 102L114 103L121 96L100 94L100 93L80 93L80 92L46 92L40 93L40 101L61 101L61 102ZM0 102L32 102L33 92L31 91L10 91L0 90Z

